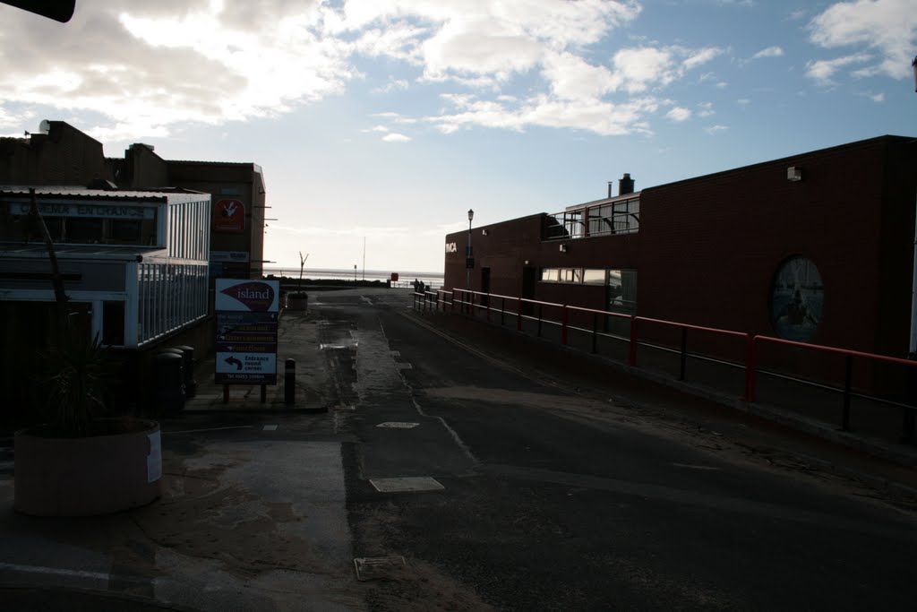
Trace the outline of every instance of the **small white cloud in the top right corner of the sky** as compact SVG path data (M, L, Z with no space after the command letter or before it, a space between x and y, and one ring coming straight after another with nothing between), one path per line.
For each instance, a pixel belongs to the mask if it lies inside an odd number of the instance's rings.
M855 0L839 2L812 18L808 25L810 39L823 49L854 48L834 61L811 64L821 83L831 82L834 72L852 63L877 61L857 71L856 76L884 74L900 79L910 76L914 40L917 38L917 11L911 0ZM830 72L825 78L824 72Z

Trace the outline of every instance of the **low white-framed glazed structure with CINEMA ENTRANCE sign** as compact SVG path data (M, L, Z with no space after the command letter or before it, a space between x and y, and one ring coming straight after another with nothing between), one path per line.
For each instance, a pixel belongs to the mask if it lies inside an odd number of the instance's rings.
M134 349L206 317L209 194L42 186L35 198L72 309L86 315L92 337ZM28 187L0 186L6 317L28 318L36 303L54 302L48 250L30 209Z

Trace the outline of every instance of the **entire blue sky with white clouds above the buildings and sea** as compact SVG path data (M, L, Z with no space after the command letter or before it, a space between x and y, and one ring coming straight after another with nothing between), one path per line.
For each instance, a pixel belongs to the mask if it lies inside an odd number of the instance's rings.
M445 237L917 136L913 0L0 5L0 135L261 166L268 265L441 272ZM365 245L365 246L364 246Z

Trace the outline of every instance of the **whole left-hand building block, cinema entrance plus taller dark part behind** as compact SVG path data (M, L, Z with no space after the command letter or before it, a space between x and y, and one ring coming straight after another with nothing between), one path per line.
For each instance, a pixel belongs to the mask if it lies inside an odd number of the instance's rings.
M118 404L155 388L157 352L213 347L215 277L260 278L265 188L257 164L167 161L146 144L105 158L62 121L0 139L0 393L28 405L37 355L53 338L50 258L60 264L74 328L119 356ZM3 417L0 411L0 417Z

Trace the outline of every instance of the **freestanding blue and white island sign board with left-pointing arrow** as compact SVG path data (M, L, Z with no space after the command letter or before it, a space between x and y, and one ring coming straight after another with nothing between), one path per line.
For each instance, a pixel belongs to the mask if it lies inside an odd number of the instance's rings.
M216 279L218 384L277 384L280 281Z

